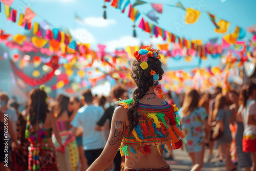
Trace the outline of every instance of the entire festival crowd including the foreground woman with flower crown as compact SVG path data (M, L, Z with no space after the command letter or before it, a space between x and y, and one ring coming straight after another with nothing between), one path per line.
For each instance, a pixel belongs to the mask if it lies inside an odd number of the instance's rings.
M175 160L179 148L193 171L202 169L206 148L207 162L218 158L228 171L256 170L256 84L173 98L158 82L164 74L159 50L147 47L134 56L132 98L123 85L108 97L88 89L55 100L41 87L19 111L16 98L1 92L0 170L169 171L163 158Z

